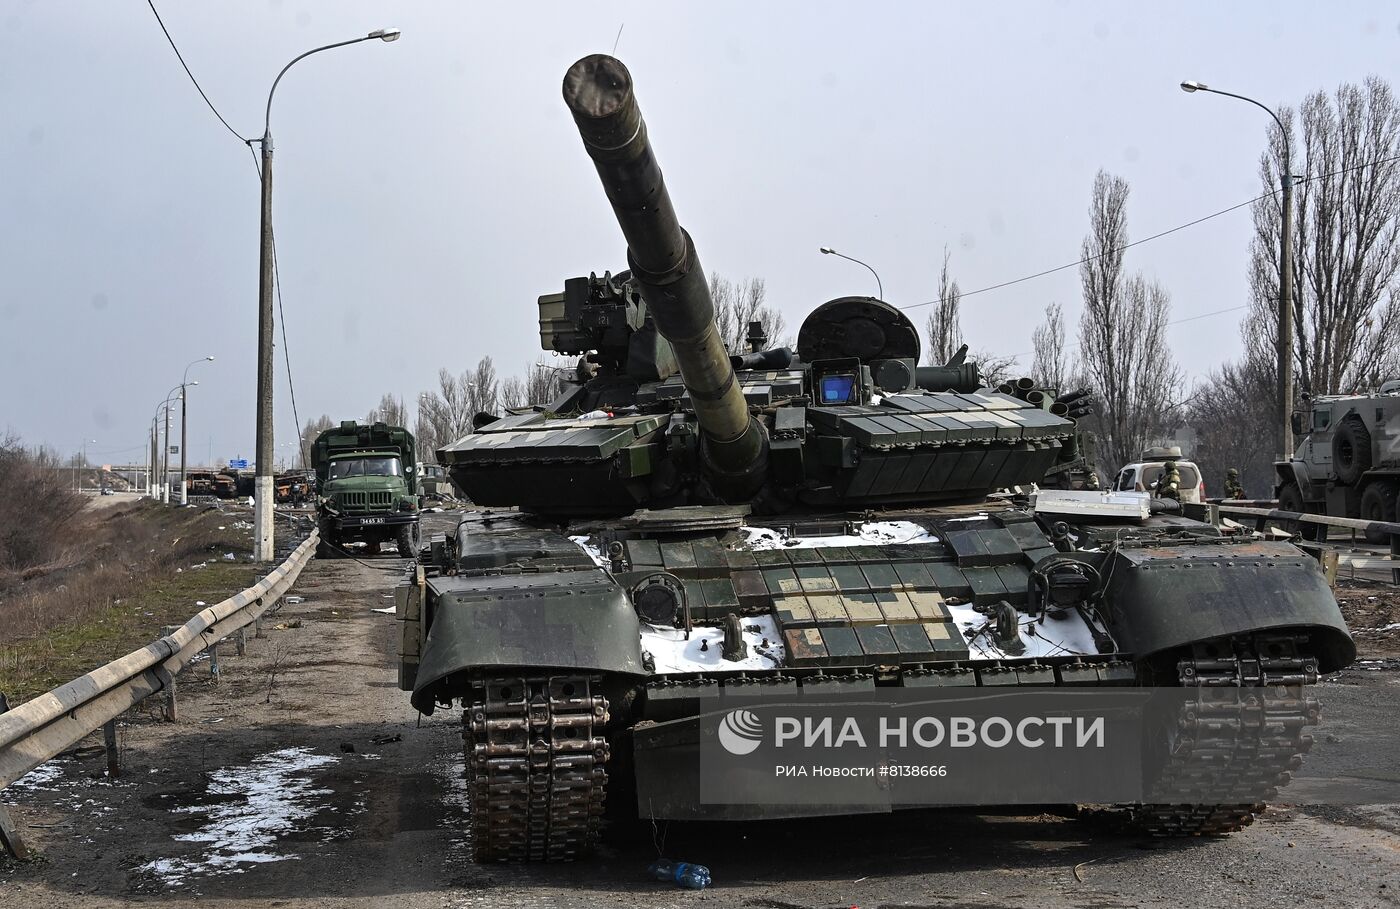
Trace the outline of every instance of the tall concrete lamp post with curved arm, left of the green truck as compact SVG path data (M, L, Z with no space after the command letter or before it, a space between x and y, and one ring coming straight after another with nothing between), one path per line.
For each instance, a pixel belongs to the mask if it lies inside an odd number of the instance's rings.
M351 38L333 45L325 45L307 50L291 63L281 67L277 78L267 92L267 111L263 118L262 144L262 221L259 230L258 256L258 437L256 452L258 472L253 486L253 559L258 562L273 560L273 508L276 506L276 490L273 489L273 431L272 431L272 398L273 398L273 282L276 262L273 261L273 230L272 230L272 97L277 92L277 83L287 74L297 60L309 57L312 53L357 45L361 41L398 41L398 28L377 28L364 38Z

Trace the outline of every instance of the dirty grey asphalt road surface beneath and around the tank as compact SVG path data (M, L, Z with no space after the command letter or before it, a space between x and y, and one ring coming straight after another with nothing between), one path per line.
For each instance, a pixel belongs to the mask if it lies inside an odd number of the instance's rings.
M456 716L398 691L374 609L402 563L315 562L246 657L181 678L181 716L122 728L125 773L74 756L6 790L34 864L0 863L0 906L1373 906L1400 902L1400 808L1271 810L1226 839L1165 842L1058 817L906 812L615 831L589 864L477 867ZM1387 664L1320 686L1327 719L1295 796L1359 780L1400 803ZM399 738L395 738L399 737ZM644 878L658 846L710 866L703 892Z

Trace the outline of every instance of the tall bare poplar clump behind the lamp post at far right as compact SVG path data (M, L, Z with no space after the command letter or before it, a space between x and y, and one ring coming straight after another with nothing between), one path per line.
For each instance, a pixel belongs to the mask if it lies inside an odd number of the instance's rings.
M1268 129L1259 172L1268 193L1254 204L1250 357L1274 361L1278 343L1281 197L1287 132ZM1292 352L1298 387L1344 394L1375 387L1400 370L1400 104L1372 76L1343 84L1333 97L1309 95L1296 119L1309 178L1294 190ZM1277 377L1277 367L1270 367ZM1277 380L1275 380L1277 384Z

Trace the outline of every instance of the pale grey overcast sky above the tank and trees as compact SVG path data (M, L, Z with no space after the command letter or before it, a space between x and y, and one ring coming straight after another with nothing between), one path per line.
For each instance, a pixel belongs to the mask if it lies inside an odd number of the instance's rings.
M762 276L795 331L879 270L902 307L1078 258L1099 168L1131 238L1260 192L1268 118L1183 78L1295 105L1400 83L1389 3L157 3L242 136L277 90L276 228L302 420L409 402L438 367L539 356L535 298L624 245L560 98L612 48L710 270ZM139 459L185 364L190 451L252 457L258 179L141 0L0 4L0 429ZM1243 305L1249 210L1128 251L1173 318ZM974 347L1028 353L1071 270L970 297ZM923 328L927 308L910 311ZM1176 325L1193 377L1239 350L1239 312ZM279 339L280 345L280 339ZM1029 356L1023 357L1029 367ZM279 346L279 454L297 431Z

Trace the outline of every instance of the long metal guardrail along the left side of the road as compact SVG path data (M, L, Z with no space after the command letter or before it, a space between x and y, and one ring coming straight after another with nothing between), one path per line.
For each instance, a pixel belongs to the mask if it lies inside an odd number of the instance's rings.
M175 632L0 714L0 789L158 692L197 654L256 622L295 583L316 532L267 577L207 606Z

